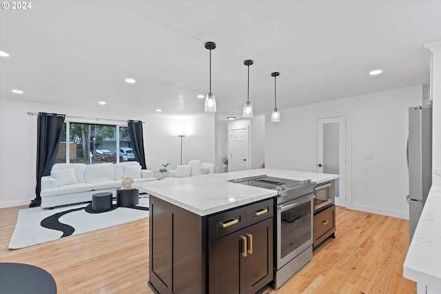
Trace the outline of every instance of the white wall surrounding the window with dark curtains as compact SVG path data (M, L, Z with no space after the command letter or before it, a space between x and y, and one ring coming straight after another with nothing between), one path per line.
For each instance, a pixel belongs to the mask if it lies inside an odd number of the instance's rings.
M170 162L169 169L180 163L181 139L178 134L185 134L183 162L194 158L214 162L214 114L193 117L134 114L130 109L108 112L0 98L0 207L29 204L35 198L37 116L28 116L26 112L143 120L146 164L154 171L158 171L162 163ZM90 123L109 121L91 120Z

